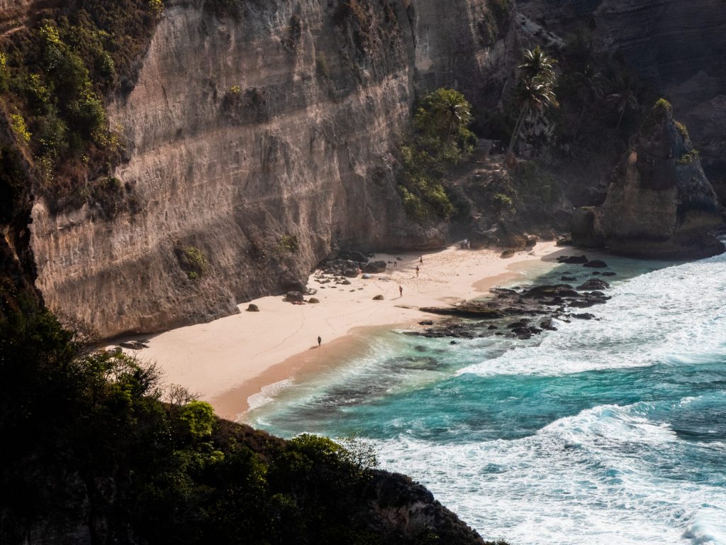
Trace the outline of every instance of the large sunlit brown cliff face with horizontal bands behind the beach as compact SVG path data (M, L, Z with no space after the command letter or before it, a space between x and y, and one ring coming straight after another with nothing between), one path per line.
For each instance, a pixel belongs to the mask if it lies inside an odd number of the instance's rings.
M166 2L136 86L107 108L133 206L33 208L46 303L103 336L158 330L298 286L331 245L444 243L405 219L391 150L417 88L473 93L505 57L482 49L485 4L453 4ZM191 247L208 261L195 279Z

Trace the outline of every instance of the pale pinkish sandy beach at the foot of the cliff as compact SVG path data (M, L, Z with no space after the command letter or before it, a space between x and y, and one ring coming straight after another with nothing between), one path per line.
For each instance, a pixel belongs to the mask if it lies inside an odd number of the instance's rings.
M252 302L259 312L245 312L249 303L240 304L240 314L167 331L136 353L155 361L167 384L181 384L210 402L220 416L238 419L248 408L248 397L262 387L303 369L334 365L341 350L348 357L363 350L368 328L431 319L418 308L481 296L528 267L554 261L558 251L553 242L538 243L502 259L499 251L450 246L423 254L423 264L418 253L375 254L376 260L401 260L370 279L351 278L350 285L319 283L316 271L308 286L317 289L319 304L263 297ZM378 295L384 299L374 300Z

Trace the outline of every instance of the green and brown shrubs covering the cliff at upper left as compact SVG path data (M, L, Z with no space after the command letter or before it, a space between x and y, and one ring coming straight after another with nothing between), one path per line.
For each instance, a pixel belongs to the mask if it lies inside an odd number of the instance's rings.
M104 97L130 89L160 1L80 0L34 8L25 26L0 43L0 110L38 173L35 190L54 206L124 198L107 184L123 155L108 125ZM0 185L6 184L0 179Z

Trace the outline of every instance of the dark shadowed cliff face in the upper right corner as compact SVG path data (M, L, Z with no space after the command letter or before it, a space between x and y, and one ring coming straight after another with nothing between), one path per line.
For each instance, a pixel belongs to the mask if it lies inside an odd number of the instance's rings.
M620 52L674 105L726 202L726 9L720 0L519 0L563 35L592 17L600 47Z

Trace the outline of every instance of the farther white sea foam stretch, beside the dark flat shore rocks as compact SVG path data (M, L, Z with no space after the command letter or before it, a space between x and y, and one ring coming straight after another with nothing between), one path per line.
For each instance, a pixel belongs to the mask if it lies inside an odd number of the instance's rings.
M656 270L618 283L613 299L560 331L520 343L459 374L560 375L659 362L713 361L726 347L726 257Z

